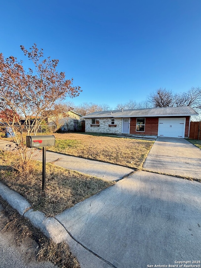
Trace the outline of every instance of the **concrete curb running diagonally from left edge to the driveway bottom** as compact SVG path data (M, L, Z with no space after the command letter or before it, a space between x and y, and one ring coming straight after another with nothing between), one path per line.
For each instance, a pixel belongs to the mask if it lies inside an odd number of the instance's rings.
M56 218L46 217L41 211L34 211L30 203L7 185L0 182L0 196L20 215L27 218L30 223L39 229L47 238L51 238L54 243L64 241L68 244L71 253L77 258L83 268L117 268L91 250L87 249L80 242L76 241ZM0 204L0 211L3 207Z

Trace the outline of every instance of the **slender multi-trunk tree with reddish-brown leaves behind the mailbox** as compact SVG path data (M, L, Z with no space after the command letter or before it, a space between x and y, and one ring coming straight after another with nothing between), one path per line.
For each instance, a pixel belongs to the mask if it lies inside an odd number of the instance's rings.
M36 44L29 51L24 46L20 47L24 55L33 62L34 69L29 68L25 72L22 61L13 56L4 59L0 53L0 111L10 109L14 115L24 115L26 135L35 135L57 100L63 100L66 96L76 97L82 90L79 86L73 86L73 79L66 80L64 72L57 72L57 59L43 59L43 51L39 51ZM27 154L22 134L24 125L15 116L14 119L7 123L15 135L20 166L26 169L33 150L30 155Z

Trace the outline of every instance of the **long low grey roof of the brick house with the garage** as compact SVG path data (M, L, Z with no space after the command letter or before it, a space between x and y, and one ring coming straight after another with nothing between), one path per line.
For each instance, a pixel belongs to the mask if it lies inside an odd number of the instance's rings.
M158 117L158 116L190 116L198 115L190 106L182 107L161 107L148 109L117 110L92 112L82 118L101 118L101 117Z

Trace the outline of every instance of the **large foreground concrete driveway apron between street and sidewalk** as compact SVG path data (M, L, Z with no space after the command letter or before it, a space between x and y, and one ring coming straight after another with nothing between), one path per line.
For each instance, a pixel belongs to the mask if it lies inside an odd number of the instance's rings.
M82 268L168 267L200 260L200 193L199 182L141 171L56 219Z

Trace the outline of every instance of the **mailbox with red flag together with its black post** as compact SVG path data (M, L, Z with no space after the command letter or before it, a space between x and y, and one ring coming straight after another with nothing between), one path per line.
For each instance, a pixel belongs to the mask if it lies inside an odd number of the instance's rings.
M46 146L55 146L55 136L54 135L26 136L26 146L28 148L43 147L42 190L45 190Z

